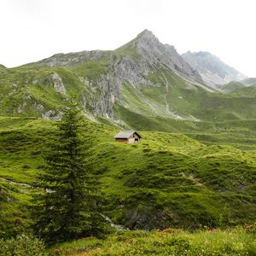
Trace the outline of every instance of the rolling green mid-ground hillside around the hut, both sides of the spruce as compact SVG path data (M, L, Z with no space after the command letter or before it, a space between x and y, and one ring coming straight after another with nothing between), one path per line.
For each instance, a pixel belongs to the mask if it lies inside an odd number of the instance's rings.
M42 165L42 146L55 129L52 124L44 119L0 119L1 177L19 183L35 181ZM116 128L86 124L93 141L91 162L102 177L108 216L114 222L151 229L255 220L252 148L207 146L183 134L157 131L142 131L141 144L123 145L113 142ZM10 216L29 200L29 194L17 191L14 197L15 201L3 204L5 212L12 212ZM29 212L23 211L22 216ZM20 228L29 223L29 218L24 219ZM9 223L15 219L9 218Z

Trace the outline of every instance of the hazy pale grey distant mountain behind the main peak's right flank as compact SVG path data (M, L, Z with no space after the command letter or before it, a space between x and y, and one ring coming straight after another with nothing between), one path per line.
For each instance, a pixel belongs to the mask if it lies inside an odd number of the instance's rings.
M246 76L235 68L226 65L217 56L206 51L183 54L183 59L189 62L200 74L205 84L212 88L219 89L218 84L227 84L231 81L240 81Z

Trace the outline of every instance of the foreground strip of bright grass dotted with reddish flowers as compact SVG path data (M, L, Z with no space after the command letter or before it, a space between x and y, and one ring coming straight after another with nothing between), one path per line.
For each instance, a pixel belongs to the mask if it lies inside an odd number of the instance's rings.
M256 235L245 230L119 231L56 245L49 255L256 255Z

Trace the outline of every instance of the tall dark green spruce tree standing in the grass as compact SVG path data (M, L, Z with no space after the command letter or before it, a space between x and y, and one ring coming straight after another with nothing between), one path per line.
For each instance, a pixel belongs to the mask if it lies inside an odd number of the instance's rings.
M69 102L44 154L38 184L44 189L35 195L33 216L35 231L47 242L99 236L107 230L98 183L86 161L82 119L77 104Z

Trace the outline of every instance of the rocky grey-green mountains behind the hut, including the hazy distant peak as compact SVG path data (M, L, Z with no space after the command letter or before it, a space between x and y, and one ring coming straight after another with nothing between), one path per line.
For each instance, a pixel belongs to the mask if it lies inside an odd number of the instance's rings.
M240 97L255 80L241 80L245 78L210 53L179 55L144 30L115 50L56 54L21 67L1 66L0 114L60 119L66 98L73 95L90 118L107 118L125 127L151 124L165 130L169 119L247 119L256 117L254 94L246 92L247 100ZM241 82L224 85L230 80Z

